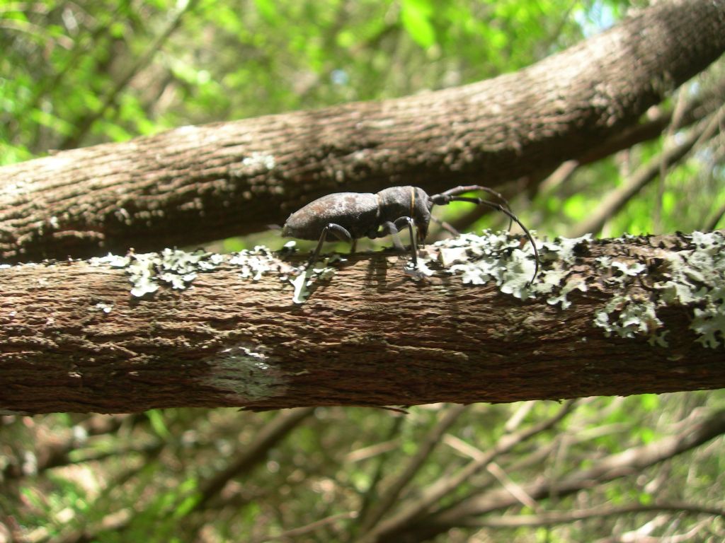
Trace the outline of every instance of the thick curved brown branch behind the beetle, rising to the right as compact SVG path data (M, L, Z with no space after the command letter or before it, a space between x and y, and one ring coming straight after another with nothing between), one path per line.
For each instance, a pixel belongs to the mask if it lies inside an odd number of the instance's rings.
M500 185L632 125L725 50L725 0L668 0L473 85L184 127L0 169L0 258L194 245L281 223L323 193Z

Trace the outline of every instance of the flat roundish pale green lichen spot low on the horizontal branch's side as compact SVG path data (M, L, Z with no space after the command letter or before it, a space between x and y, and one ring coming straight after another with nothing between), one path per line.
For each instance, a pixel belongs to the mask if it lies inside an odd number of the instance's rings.
M275 358L262 347L240 342L204 358L209 372L200 379L206 387L218 390L240 404L283 395L286 377Z

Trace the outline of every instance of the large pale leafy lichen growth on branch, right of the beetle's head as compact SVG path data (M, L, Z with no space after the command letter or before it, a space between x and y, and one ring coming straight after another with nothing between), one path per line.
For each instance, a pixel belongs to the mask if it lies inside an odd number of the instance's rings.
M595 311L593 324L607 336L647 337L652 345L666 347L670 332L658 313L668 306L692 308L689 328L697 341L708 348L725 345L725 237L721 232L692 232L685 236L692 248L682 251L655 251L665 261L666 271L656 277L641 261L631 257L595 258L595 274L576 269L577 255L587 253L594 243L591 235L573 239L557 238L537 243L542 270L529 285L534 254L529 245L505 232L484 231L482 235L461 235L434 243L423 263L434 260L444 272L463 283L484 285L494 282L501 292L521 300L544 298L552 306L567 309L567 298L574 290L587 292L592 283L613 292L602 308ZM627 236L614 242L632 243ZM643 288L643 282L647 288Z

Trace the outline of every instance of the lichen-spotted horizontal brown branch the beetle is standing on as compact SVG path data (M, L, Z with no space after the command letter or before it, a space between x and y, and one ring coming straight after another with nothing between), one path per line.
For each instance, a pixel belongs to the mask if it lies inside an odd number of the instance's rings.
M465 284L433 261L431 277L415 281L402 258L374 253L336 264L302 304L281 277L289 261L261 253L143 298L130 295L127 269L101 261L0 269L0 409L382 406L725 387L720 233L544 243L539 291L524 301L502 291L526 298L530 257L499 236L508 245L492 249L497 269L515 269L517 255L529 263L502 290ZM473 277L486 245L472 239L428 250ZM621 334L606 337L601 311ZM710 340L691 329L697 311L715 311L701 327Z

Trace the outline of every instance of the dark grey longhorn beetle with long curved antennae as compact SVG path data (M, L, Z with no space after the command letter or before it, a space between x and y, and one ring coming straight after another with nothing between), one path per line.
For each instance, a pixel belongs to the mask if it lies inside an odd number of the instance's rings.
M492 194L502 201L494 203L481 198L461 196L472 190L483 190ZM491 209L501 211L508 218L518 224L526 237L529 238L531 247L534 248L536 257L536 268L534 277L531 277L529 285L536 279L539 273L539 252L534 237L526 229L521 221L513 214L505 198L487 187L481 185L468 185L455 187L446 190L444 193L428 196L419 187L390 187L381 190L379 193L334 193L318 198L307 204L307 206L295 211L289 216L282 228L284 237L297 237L301 240L319 240L310 258L310 266L315 264L323 243L328 235L332 234L340 240L352 243L352 251L355 251L355 243L361 237L369 237L374 240L386 235L397 235L399 226L407 227L410 232L410 254L413 256L413 266L418 267L418 245L423 243L428 234L428 224L431 222L431 209L433 206L445 206L450 202L471 202ZM436 219L434 219L436 220ZM413 234L413 225L417 236Z

